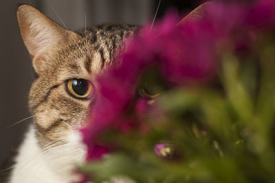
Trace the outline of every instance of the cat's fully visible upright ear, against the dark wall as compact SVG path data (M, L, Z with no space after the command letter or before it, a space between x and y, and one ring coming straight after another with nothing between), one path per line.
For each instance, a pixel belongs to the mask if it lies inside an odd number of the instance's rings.
M23 41L32 58L40 56L47 49L61 47L77 36L30 5L19 6L17 19Z

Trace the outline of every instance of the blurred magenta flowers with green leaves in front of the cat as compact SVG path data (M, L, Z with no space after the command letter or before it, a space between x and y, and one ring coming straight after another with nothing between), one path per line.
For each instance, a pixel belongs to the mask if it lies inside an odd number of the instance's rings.
M175 17L145 25L98 78L80 170L96 182L275 182L275 1Z

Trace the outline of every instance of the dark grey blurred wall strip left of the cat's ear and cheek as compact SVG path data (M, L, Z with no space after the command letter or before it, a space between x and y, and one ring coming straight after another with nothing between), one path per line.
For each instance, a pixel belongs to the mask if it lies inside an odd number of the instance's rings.
M17 25L19 3L35 5L34 1L17 0L2 0L0 5L0 163L17 149L28 121L9 126L30 116L27 101L33 75Z

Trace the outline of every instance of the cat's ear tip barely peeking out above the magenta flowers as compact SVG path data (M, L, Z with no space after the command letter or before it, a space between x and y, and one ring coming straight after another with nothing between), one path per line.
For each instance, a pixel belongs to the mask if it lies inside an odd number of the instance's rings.
M212 2L208 2L208 3L203 3L199 5L199 7L197 7L195 10L192 10L192 12L190 12L183 19L181 19L181 21L179 21L177 25L181 25L187 20L193 20L193 19L195 20L203 17L206 14L206 8L208 7L208 5L211 5L211 4Z

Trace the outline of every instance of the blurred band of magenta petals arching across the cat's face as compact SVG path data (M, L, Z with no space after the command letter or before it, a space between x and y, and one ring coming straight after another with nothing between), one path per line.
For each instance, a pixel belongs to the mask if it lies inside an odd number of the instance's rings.
M275 24L275 1L212 3L200 19L177 26L176 17L169 13L153 29L144 26L127 42L120 54L121 65L98 77L91 120L82 131L88 160L111 150L100 140L109 129L122 133L140 126L144 132L150 129L142 123L146 101L136 97L144 69L155 66L162 83L171 87L211 81L217 75L220 53L248 49L259 29ZM159 151L160 145L156 148Z

